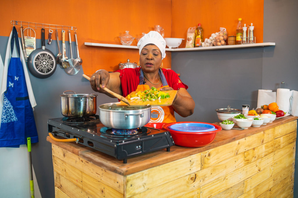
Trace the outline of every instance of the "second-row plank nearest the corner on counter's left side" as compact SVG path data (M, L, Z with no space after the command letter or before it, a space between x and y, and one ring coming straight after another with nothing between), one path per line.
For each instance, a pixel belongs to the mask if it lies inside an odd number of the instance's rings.
M83 190L94 197L124 197L119 191L83 173Z

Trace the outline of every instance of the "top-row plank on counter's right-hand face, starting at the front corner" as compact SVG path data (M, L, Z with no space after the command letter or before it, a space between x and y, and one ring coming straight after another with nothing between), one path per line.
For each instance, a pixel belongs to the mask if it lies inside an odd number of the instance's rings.
M126 177L126 196L138 194L150 188L197 172L201 169L201 153L167 164L140 171ZM166 170L166 171L165 171ZM177 175L178 173L178 175Z

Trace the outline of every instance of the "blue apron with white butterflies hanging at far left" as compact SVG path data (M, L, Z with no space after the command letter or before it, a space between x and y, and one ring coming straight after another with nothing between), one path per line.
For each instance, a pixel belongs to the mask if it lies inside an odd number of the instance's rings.
M31 137L31 143L38 142L33 110L20 59L18 32L15 27L10 41L11 54L13 54L14 42L19 57L11 57L8 66L7 90L4 92L1 113L0 147L19 147L21 144L27 144L27 137Z

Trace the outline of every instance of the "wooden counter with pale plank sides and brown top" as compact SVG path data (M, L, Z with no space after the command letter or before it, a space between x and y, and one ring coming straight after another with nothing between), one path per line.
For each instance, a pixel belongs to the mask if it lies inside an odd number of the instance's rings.
M218 132L127 164L74 142L52 143L56 197L293 197L297 117Z

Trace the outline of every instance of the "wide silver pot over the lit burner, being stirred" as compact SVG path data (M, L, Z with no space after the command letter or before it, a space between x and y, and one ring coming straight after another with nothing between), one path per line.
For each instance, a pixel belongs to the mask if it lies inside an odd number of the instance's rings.
M132 107L117 106L107 103L99 106L100 121L114 129L135 129L150 121L151 106Z

